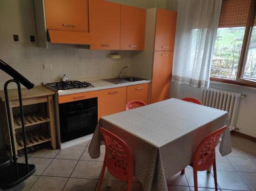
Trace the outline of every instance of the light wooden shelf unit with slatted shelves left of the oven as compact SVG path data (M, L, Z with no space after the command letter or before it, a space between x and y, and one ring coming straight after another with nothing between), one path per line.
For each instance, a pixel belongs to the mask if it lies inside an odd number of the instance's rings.
M23 138L22 134L20 134L20 129L22 128L22 122L19 115L13 114L13 108L19 107L18 102L18 93L17 89L11 89L9 92L9 104L11 108L11 123L13 128L13 136L15 142L15 152L23 149ZM56 131L55 131L55 117L54 117L54 103L53 103L53 95L54 91L47 89L46 87L34 87L31 90L22 89L22 98L23 98L23 106L40 104L38 106L39 111L37 112L28 112L24 113L24 123L25 127L38 125L38 124L46 124L48 126L48 132L42 131L43 128L26 128L26 142L27 147L31 147L34 145L41 144L42 142L51 142L51 146L53 149L56 149ZM10 132L8 127L8 119L6 112L6 104L4 91L0 91L0 111L1 113L1 123L3 124L6 143L10 144ZM44 128L46 129L46 128ZM12 153L12 152L11 152Z

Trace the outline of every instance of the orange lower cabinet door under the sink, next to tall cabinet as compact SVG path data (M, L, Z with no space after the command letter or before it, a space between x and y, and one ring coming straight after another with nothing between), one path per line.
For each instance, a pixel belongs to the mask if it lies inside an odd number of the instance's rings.
M127 103L133 100L140 100L148 104L150 83L127 86Z

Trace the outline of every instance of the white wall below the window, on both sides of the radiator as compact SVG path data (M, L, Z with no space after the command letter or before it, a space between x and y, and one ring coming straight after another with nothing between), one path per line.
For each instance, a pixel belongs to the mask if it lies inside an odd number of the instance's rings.
M256 137L256 88L223 83L211 83L210 87L241 92L246 95L246 98L241 98L236 127L239 128L239 132ZM171 97L178 99L193 97L201 100L201 89L172 82Z

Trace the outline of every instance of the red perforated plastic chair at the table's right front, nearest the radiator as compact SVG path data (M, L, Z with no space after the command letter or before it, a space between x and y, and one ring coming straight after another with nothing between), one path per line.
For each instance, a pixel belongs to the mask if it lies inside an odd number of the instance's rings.
M193 167L195 191L198 191L197 172L206 171L211 168L211 165L214 168L215 190L218 190L215 148L218 144L220 136L226 130L226 128L227 126L224 126L217 131L214 131L211 134L207 135L197 147L197 150L194 154L193 163L190 164L190 166ZM181 174L184 173L185 169L181 171Z

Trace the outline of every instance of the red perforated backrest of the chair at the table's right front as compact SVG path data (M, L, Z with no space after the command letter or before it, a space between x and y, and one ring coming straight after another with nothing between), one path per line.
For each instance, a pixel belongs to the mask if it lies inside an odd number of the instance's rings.
M224 126L207 135L197 147L194 155L193 168L197 171L205 171L211 167L215 159L215 148L222 133L226 130Z

